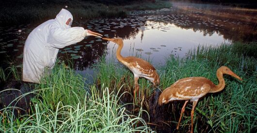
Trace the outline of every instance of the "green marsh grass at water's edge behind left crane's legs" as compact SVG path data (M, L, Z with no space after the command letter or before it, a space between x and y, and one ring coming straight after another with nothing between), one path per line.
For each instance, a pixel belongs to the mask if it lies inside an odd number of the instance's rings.
M106 61L105 57L101 57L100 60L92 66L97 72L96 86L105 84L110 90L117 90L122 87L123 91L128 91L133 96L134 90L134 75L126 67L119 62L115 62L114 59ZM149 99L153 90L155 89L148 80L140 78L139 83L139 98L140 102L143 97ZM136 104L141 104L137 102Z

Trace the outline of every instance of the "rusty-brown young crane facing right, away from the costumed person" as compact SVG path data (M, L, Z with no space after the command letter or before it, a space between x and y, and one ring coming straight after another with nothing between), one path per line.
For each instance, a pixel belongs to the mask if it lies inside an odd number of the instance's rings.
M231 71L226 66L221 66L217 70L216 74L219 80L218 85L215 85L210 80L204 77L190 77L178 80L161 93L158 100L159 105L163 103L166 104L169 101L173 100L186 100L180 113L179 121L177 123L177 130L181 117L183 116L183 113L185 111L186 104L190 100L191 102L193 102L193 107L191 111L191 133L193 133L193 112L197 104L197 101L201 97L205 96L207 93L215 93L222 91L224 89L225 80L223 78L223 74L231 75L242 81L242 79L239 76L237 76L233 71Z

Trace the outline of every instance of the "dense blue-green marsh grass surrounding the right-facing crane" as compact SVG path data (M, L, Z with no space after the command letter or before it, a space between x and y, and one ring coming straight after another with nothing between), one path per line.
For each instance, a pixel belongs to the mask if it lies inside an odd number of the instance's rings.
M251 133L257 129L257 70L256 58L246 52L238 52L237 46L223 44L219 47L199 46L190 50L186 58L167 58L161 76L161 88L166 88L178 79L206 77L217 84L216 70L228 66L243 82L224 75L225 89L202 98L194 113L194 132ZM191 111L191 104L187 111ZM184 115L181 131L188 129L191 117ZM177 124L177 121L172 123ZM203 125L206 127L203 128Z

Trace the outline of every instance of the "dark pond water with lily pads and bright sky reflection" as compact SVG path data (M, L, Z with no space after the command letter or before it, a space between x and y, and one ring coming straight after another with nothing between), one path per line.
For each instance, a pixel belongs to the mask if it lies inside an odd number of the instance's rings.
M0 59L22 64L28 34L38 24L0 27ZM183 57L200 45L257 40L257 10L208 4L173 3L170 9L134 11L127 18L75 18L73 26L124 40L123 56L138 56L154 66L163 65L170 54ZM99 57L113 58L117 45L97 37L59 50L61 60L72 59L80 73ZM114 56L115 57L115 56Z

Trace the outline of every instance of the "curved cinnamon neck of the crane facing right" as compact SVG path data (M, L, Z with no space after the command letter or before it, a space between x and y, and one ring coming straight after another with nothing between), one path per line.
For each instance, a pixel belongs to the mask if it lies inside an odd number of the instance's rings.
M223 73L221 72L221 70L218 69L216 74L219 80L219 84L215 85L214 88L210 89L209 93L219 92L225 88L225 80L223 78Z

